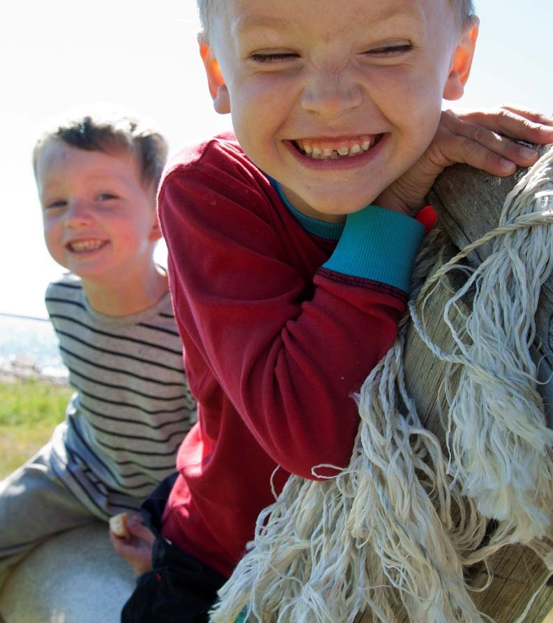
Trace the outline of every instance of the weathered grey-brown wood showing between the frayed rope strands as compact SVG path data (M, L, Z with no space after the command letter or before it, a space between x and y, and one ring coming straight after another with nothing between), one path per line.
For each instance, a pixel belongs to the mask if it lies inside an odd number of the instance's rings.
M434 185L430 195L432 206L437 211L439 220L453 241L451 255L458 248L482 237L486 232L497 227L499 214L508 192L522 172L507 179L487 176L470 167L457 165L450 167ZM491 253L491 245L478 249L469 258L473 265ZM454 290L458 290L458 285ZM551 354L553 351L553 280L544 286L540 298L540 308L536 314L537 334L541 345L536 356ZM453 339L441 316L450 294L440 289L430 299L425 308L427 331L434 341L444 350L453 349ZM460 301L463 313L469 312L471 301ZM460 326L458 314L452 310L450 318L454 326ZM444 429L439 422L437 405L445 409L445 398L441 393L441 384L446 374L446 366L428 350L411 326L407 336L405 352L405 373L410 395L416 400L419 415L426 428L432 430L444 442ZM540 377L547 379L551 373L549 362L543 362ZM455 384L455 380L452 380ZM552 383L541 388L546 405L553 404ZM551 421L551 413L548 414ZM512 623L519 617L531 596L543 584L550 573L529 548L513 546L504 548L490 559L490 569L494 574L491 585L483 592L474 593L474 601L483 613L493 617L497 623ZM475 588L484 585L487 580L484 566L471 569L471 585ZM553 588L545 585L540 591L529 615L528 623L541 623L553 608ZM397 622L408 621L406 615L397 613ZM359 623L371 623L372 616L365 615Z

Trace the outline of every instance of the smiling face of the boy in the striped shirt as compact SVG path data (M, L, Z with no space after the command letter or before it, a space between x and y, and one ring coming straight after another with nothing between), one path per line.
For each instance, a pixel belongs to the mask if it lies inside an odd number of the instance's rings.
M50 140L38 156L36 183L46 246L61 266L101 285L151 262L160 237L153 192L129 153Z

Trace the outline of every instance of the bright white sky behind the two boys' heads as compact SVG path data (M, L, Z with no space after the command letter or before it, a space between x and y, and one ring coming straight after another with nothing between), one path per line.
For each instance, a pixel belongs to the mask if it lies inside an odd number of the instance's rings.
M457 105L512 102L552 114L553 1L476 0L476 9L476 59ZM230 127L211 107L196 31L195 0L10 3L0 24L0 312L45 317L45 287L61 273L44 245L31 170L48 119L119 103L156 119L172 150Z

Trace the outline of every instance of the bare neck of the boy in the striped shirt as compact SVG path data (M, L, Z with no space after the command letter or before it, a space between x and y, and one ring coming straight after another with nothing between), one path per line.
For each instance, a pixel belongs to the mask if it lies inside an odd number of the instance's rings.
M148 271L122 279L95 283L83 279L91 307L107 316L129 316L155 305L167 292L167 273L151 263Z

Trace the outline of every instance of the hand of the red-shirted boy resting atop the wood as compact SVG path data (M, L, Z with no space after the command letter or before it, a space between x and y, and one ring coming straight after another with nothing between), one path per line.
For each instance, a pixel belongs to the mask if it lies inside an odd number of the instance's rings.
M465 163L501 177L513 174L517 166L531 167L539 154L515 140L553 143L553 119L513 106L457 114L446 110L441 113L430 147L374 204L416 214L425 204L434 180L455 163Z

